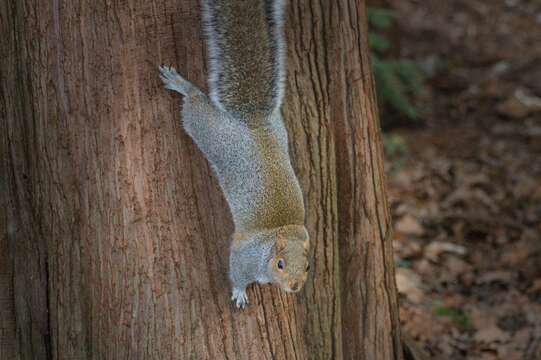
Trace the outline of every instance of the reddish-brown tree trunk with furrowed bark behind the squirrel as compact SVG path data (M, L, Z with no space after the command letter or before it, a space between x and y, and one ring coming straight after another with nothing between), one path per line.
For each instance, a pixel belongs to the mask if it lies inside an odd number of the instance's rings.
M365 5L286 9L313 265L236 311L230 214L157 71L205 88L198 1L0 2L2 359L402 358Z

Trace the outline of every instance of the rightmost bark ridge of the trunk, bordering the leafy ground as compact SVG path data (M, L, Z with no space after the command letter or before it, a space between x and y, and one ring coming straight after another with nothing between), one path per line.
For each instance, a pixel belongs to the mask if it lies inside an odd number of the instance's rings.
M358 354L365 354L366 359L401 358L392 249L387 236L390 215L367 51L366 14L362 2L341 3L344 20L341 33L349 33L342 36L346 83L342 88L348 94L344 95L345 104L336 104L336 109L342 112L337 119L341 123L337 126L340 134L337 136L349 141L345 148L352 149L351 152L339 150L337 160L341 179L338 193L345 194L339 200L342 206L339 213L346 215L340 219L342 309L343 313L352 315L344 316L342 325L344 332L355 334L350 339L344 338L344 353L346 358L357 358ZM356 273L358 263L365 264L362 274Z

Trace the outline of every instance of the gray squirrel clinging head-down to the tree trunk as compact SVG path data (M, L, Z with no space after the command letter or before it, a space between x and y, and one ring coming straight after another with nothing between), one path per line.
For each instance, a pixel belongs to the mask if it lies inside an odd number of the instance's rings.
M309 269L304 203L281 116L285 41L281 0L203 0L209 48L204 94L161 66L165 88L184 95L184 129L211 164L233 215L231 300L273 283L299 291Z

